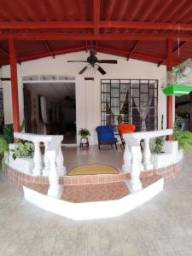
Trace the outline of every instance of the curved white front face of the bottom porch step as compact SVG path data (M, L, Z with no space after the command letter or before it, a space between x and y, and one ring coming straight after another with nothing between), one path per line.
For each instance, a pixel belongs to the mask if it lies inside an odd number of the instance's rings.
M163 190L164 180L160 178L157 182L149 185L135 194L114 201L94 201L72 203L56 200L37 191L23 187L26 201L46 211L53 212L73 220L112 218L130 212L132 209L143 205Z

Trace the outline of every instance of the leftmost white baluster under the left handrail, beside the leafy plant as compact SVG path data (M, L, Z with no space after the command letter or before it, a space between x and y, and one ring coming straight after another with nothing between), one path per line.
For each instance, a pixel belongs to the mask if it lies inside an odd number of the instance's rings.
M39 148L39 142L34 142L35 150L33 155L34 168L32 169L32 175L38 176L42 174L42 155Z

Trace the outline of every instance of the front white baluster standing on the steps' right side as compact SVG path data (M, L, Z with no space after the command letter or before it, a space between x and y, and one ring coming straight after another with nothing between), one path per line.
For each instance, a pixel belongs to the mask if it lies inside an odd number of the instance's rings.
M142 189L142 183L139 179L140 177L140 166L138 163L138 153L140 147L132 147L131 154L132 154L132 164L131 164L131 181L130 181L130 188L131 192L137 192L138 190Z

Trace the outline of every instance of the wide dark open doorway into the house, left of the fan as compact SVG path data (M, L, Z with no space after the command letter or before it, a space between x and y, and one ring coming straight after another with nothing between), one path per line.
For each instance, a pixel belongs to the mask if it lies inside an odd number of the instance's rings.
M67 144L76 140L75 83L24 83L26 132L64 135Z

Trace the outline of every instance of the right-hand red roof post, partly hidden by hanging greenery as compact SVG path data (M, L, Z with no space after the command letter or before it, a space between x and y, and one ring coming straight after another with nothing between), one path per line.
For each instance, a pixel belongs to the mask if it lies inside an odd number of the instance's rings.
M172 55L172 39L167 39L167 56L166 70L172 71L173 55ZM172 129L172 96L166 96L166 128ZM172 140L172 135L167 136L167 140Z

